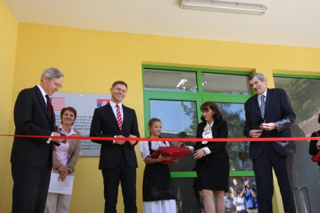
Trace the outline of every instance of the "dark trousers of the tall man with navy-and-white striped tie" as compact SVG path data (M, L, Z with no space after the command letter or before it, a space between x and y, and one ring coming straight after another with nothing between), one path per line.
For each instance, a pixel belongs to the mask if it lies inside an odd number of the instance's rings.
M272 212L272 168L278 180L284 212L293 213L295 205L292 194L292 156L282 156L269 142L265 144L260 157L252 160L257 183L259 213ZM287 158L291 158L291 163Z

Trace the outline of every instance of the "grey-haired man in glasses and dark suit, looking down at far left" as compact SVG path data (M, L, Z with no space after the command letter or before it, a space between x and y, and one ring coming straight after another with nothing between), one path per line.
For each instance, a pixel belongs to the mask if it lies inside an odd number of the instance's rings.
M43 71L41 83L22 90L14 105L15 135L60 136L49 99L62 87L63 74ZM49 99L49 101L48 101ZM14 137L11 152L12 212L44 212L51 167L52 142L63 139Z

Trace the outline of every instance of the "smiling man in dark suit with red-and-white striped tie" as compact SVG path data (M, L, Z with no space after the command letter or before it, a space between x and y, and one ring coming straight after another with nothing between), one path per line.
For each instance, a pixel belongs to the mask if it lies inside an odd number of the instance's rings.
M134 146L137 141L123 141L123 137L140 137L136 113L122 104L128 86L116 81L110 88L110 102L96 108L91 122L90 137L114 137L113 141L92 140L100 143L99 169L104 184L104 212L116 212L118 186L121 181L124 212L137 212L136 168Z

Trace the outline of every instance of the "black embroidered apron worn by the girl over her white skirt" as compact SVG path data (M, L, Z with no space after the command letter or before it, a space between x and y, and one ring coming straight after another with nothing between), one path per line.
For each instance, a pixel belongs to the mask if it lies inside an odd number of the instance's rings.
M146 164L143 173L142 196L143 202L175 199L167 164Z

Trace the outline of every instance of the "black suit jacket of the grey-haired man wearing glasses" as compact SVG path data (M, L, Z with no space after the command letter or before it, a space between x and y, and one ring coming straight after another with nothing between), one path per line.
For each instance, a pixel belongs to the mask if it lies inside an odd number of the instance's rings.
M53 108L52 108L53 109ZM48 107L40 89L22 90L14 105L15 135L48 135L55 130L55 115L49 117ZM43 167L50 158L52 161L52 143L46 143L48 138L14 137L11 163L26 166Z

